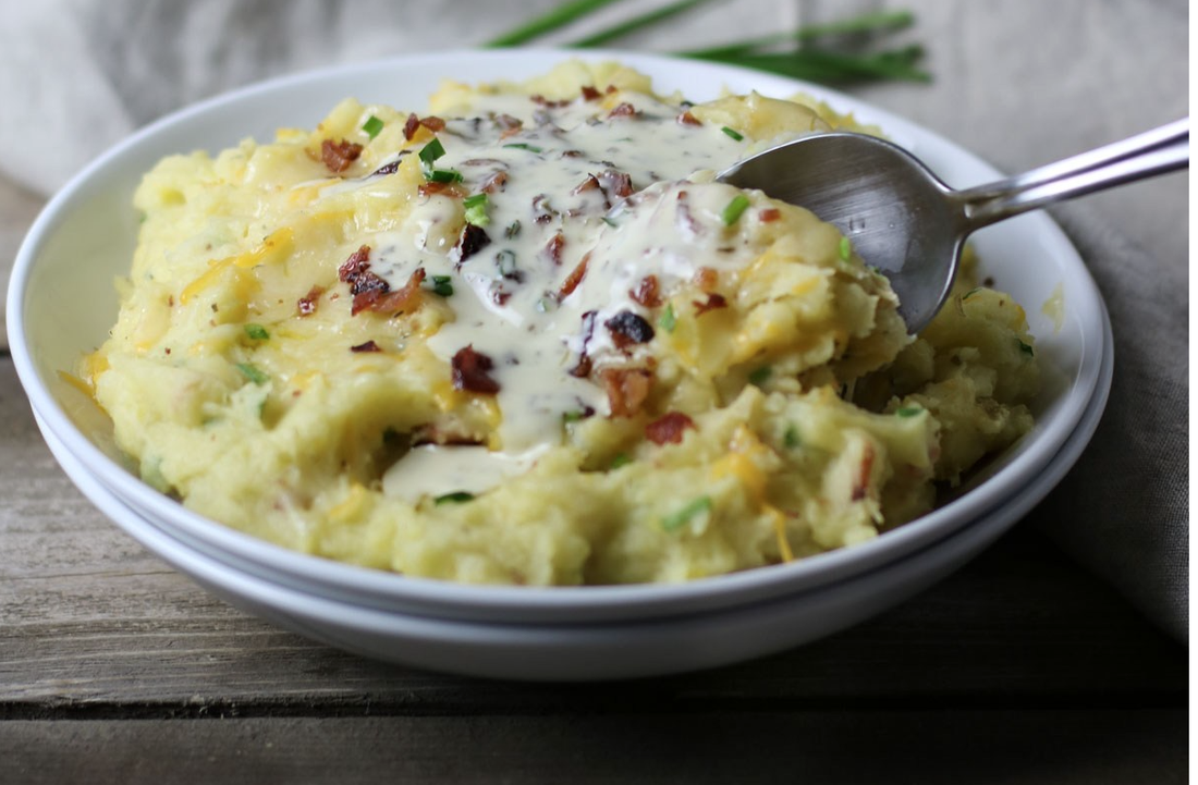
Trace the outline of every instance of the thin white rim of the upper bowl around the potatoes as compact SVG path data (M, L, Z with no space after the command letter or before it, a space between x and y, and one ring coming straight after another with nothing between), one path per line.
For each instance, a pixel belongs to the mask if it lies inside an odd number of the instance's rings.
M1073 433L1091 399L1097 394L1105 401L1109 387L1109 375L1103 378L1101 367L1103 357L1112 351L1112 342L1108 338L1111 326L1101 294L1078 252L1060 228L1045 213L1023 216L1015 221L1021 221L1027 227L1034 227L1041 238L1052 246L1051 253L1065 260L1071 284L1079 286L1087 295L1087 301L1094 306L1093 313L1089 314L1093 324L1088 325L1088 330L1083 330L1083 338L1093 338L1093 345L1088 340L1087 345L1082 348L1077 378L1072 380L1066 393L1063 393L1063 397L1067 395L1071 400L1070 410L1065 415L1053 418L1043 429L1037 424L1036 430L1023 440L1025 443L1021 451L993 477L980 483L960 499L873 541L788 564L696 579L684 584L532 588L470 586L357 567L288 550L229 529L159 494L109 459L75 428L50 392L46 380L42 379L30 352L25 332L25 295L38 252L58 228L56 224L61 215L74 201L81 199L83 187L93 179L102 177L108 169L117 167L122 156L135 151L146 140L169 133L179 126L186 126L195 117L202 117L214 109L238 102L252 102L272 91L310 86L321 81L352 80L364 73L405 70L413 67L413 65L425 68L443 68L460 66L465 61L494 61L509 66L518 64L532 76L543 73L549 65L569 58L587 61L618 60L648 73L655 83L661 79L662 73L680 68L689 76L694 74L696 79L704 78L714 83L739 79L761 85L762 91L769 93L806 92L829 102L840 110L852 110L864 121L882 125L888 133L893 133L896 138L901 139L903 135L908 135L924 144L948 151L955 157L969 161L973 165L985 170L986 176L997 179L1000 175L997 169L955 143L855 97L819 85L772 74L730 66L683 61L662 55L613 49L587 52L561 49L454 50L350 64L265 80L184 107L114 145L56 193L34 222L18 250L13 266L7 298L7 327L11 354L18 376L34 410L44 422L46 428L53 431L72 454L92 469L101 482L113 489L121 499L132 502L155 519L167 523L174 531L184 532L188 537L204 542L214 552L234 555L267 570L289 574L297 580L314 581L352 594L374 596L375 599L386 604L415 603L420 606L436 608L442 612L471 616L479 614L494 616L497 612L533 612L564 618L577 612L603 615L617 610L621 616L627 616L629 612L660 614L666 609L671 609L672 612L679 606L706 606L704 604L708 603L733 602L731 598L734 597L775 593L793 588L794 585L818 585L893 561L912 549L948 536L956 529L968 525L985 511L1003 503L1010 493L1017 491L1019 487L1027 484L1030 478L1043 470L1045 465L1051 463L1060 446ZM438 73L448 72L441 70ZM488 80L491 78L488 77ZM1049 441L1045 442L1046 439ZM1009 479L1011 477L1022 478L1022 482L1015 483ZM975 508L978 512L966 514L964 509L967 508Z

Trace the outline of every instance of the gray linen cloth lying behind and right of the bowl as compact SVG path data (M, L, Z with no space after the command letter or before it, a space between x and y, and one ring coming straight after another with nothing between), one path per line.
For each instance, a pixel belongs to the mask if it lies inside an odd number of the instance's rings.
M0 115L0 276L7 280L17 238L42 199L102 150L171 109L280 73L470 46L553 4L40 0L13 5L0 25L0 95L6 99ZM724 0L665 31L622 44L671 50L788 29L800 14L884 6L916 12L916 35L930 48L937 83L879 86L865 91L865 97L988 153L1005 168L1045 163L1148 127L1103 114L1144 98L1144 85L1163 91L1184 113L1185 98L1170 91L1187 84L1185 0ZM1059 38L1064 26L1078 35ZM547 43L561 38L550 37ZM1011 52L1018 55L1010 58ZM1180 71L1176 60L1182 61ZM1142 67L1129 67L1131 62ZM1143 74L1151 74L1151 80ZM1023 108L1037 123L1025 122ZM1048 116L1057 121L1046 123ZM1069 122L1075 116L1096 121ZM1033 126L1043 133L1033 133ZM1018 139L1025 140L1022 146ZM1168 194L1176 192L1173 187ZM1185 211L1173 203L1149 197L1070 205L1057 213L1107 298L1117 368L1094 442L1029 521L1162 628L1186 639L1188 271L1180 254L1188 234ZM1168 231L1184 231L1185 242L1178 234L1162 234Z

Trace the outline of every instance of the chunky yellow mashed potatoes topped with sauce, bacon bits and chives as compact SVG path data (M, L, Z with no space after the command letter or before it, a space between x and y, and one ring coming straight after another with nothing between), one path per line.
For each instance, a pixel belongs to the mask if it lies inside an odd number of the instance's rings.
M567 62L173 156L83 373L146 482L329 558L610 584L860 543L1024 434L1039 376L1008 295L910 339L834 227L714 181L834 125Z

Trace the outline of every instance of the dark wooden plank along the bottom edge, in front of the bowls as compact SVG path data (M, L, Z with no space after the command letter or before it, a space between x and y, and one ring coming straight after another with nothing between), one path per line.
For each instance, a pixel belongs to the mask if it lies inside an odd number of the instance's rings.
M25 785L1186 781L1185 709L0 723Z

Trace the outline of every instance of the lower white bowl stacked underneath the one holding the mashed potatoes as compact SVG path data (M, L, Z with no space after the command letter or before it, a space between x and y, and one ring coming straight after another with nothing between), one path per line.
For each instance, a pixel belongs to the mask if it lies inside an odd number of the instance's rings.
M1109 355L1101 375L1109 381ZM1106 387L1103 387L1106 390ZM274 624L385 662L468 676L598 681L679 674L776 653L842 630L931 586L997 539L1060 482L1097 427L1087 407L1047 470L968 527L866 574L766 602L653 621L503 624L387 611L311 594L194 549L104 488L54 436L75 485L128 535L230 604ZM42 425L42 423L38 423Z

